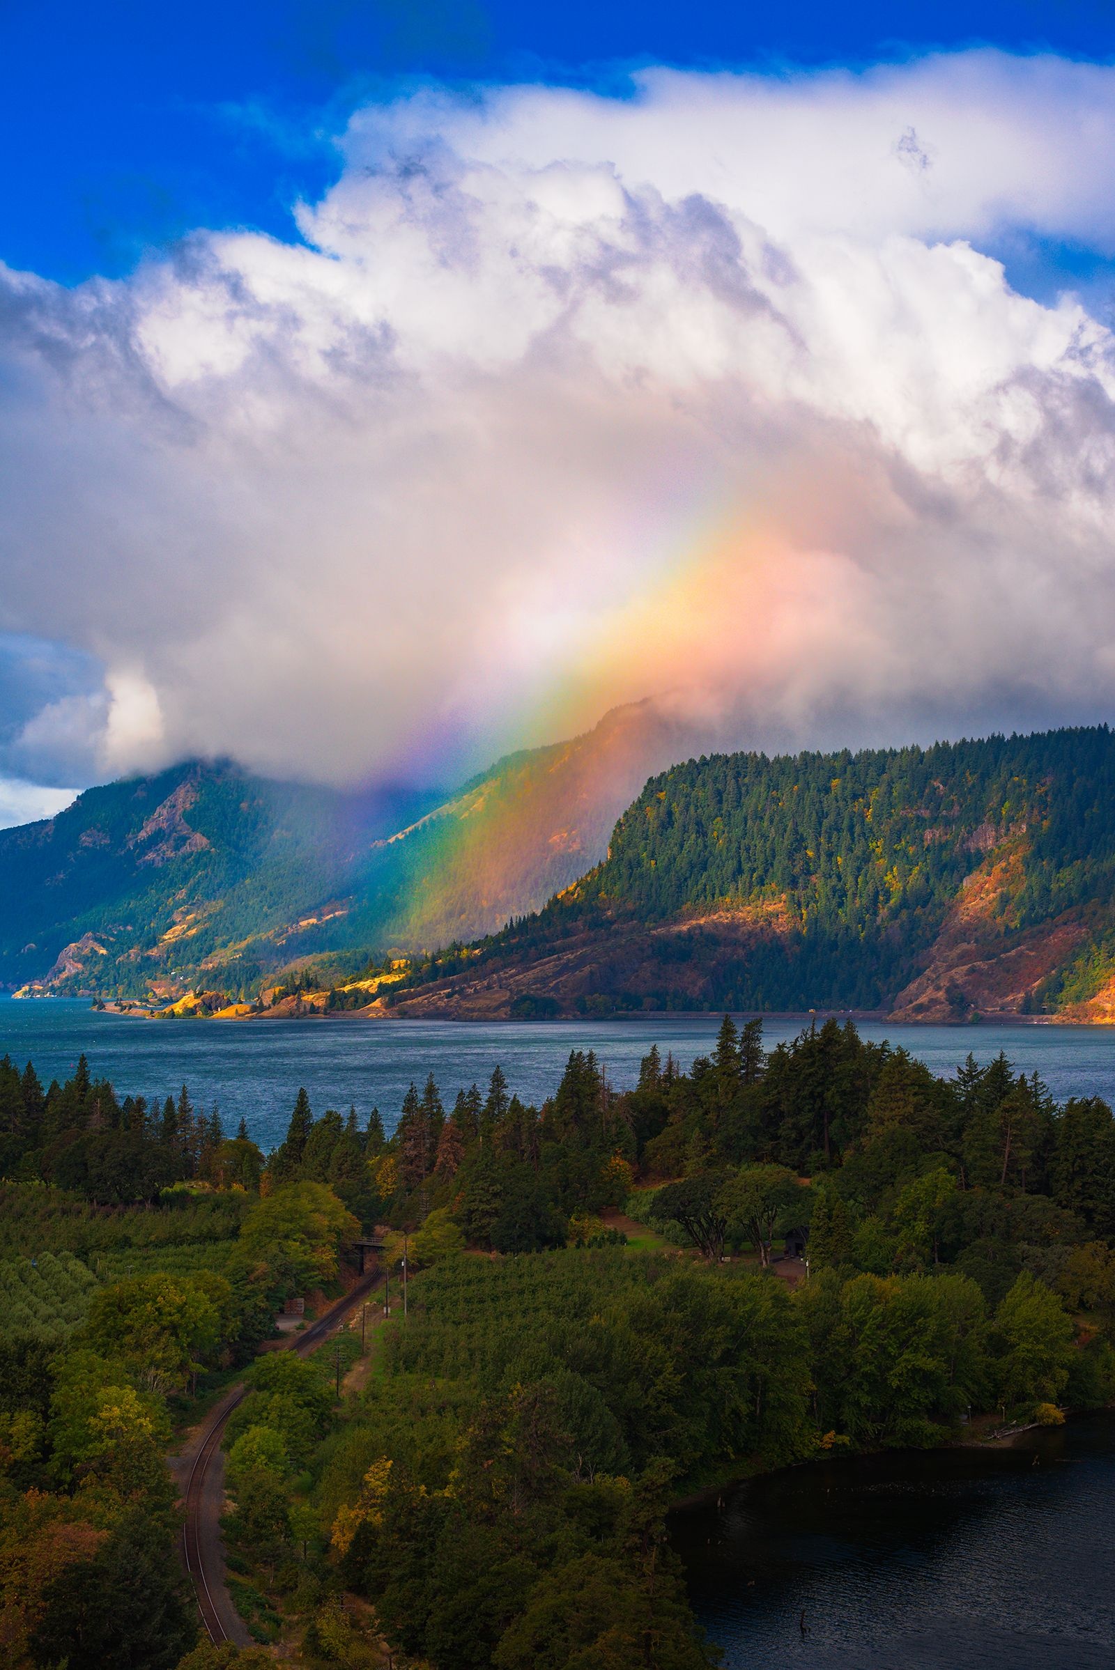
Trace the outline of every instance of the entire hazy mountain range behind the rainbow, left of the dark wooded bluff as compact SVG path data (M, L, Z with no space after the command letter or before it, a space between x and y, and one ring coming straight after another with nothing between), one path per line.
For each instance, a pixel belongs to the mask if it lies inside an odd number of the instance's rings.
M688 746L649 703L511 755L451 798L187 762L0 830L0 985L252 994L307 957L436 949L542 905Z

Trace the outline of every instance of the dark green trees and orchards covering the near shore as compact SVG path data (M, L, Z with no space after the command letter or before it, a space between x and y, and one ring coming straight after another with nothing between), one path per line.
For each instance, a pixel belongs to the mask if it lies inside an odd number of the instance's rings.
M192 1647L164 1466L237 1373L254 1633L434 1670L699 1670L678 1491L1115 1396L1115 1117L1003 1055L938 1079L850 1022L768 1052L726 1017L629 1089L573 1050L541 1107L499 1067L444 1099L427 1077L391 1134L302 1091L269 1156L185 1089L119 1096L83 1060L43 1089L5 1059L0 1141L13 1670L239 1662ZM371 1231L396 1301L404 1254L411 1278L374 1373L342 1388L352 1333L252 1363Z

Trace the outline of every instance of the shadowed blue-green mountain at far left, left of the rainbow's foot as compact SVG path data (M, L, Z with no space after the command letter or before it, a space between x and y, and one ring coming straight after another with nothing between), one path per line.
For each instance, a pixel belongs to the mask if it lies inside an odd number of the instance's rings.
M0 832L0 980L145 992L344 887L359 807L189 762ZM237 970L250 980L277 947Z

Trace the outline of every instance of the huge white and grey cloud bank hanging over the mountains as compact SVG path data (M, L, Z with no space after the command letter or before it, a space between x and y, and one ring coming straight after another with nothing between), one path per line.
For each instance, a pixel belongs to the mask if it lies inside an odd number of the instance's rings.
M1112 715L1115 344L993 252L1115 257L1115 70L422 89L339 145L300 245L0 272L0 650L100 668L0 768Z

